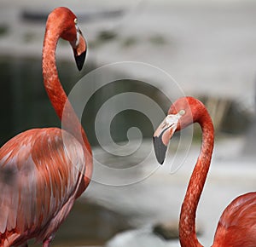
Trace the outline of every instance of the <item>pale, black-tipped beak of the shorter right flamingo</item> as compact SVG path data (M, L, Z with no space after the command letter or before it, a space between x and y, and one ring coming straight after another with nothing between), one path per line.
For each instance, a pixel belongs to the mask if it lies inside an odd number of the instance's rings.
M154 153L159 164L163 164L165 161L167 146L177 129L179 118L181 118L179 113L168 115L154 132Z

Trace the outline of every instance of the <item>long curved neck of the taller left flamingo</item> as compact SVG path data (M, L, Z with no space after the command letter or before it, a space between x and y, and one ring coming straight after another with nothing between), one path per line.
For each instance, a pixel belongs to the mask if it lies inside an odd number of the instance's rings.
M63 109L65 107L65 121L64 129L71 133L82 145L85 153L85 177L82 185L79 187L79 193L84 191L90 182L92 174L92 154L90 143L84 132L82 125L80 124L79 118L73 110L70 102L67 99L67 95L61 86L61 82L58 77L57 68L55 64L55 49L58 43L58 39L61 36L61 28L55 26L46 26L46 32L44 36L44 47L43 47L43 77L44 87L47 94L49 95L49 101L55 109L56 114L62 120ZM67 115L66 115L67 114ZM68 116L68 118L67 118Z

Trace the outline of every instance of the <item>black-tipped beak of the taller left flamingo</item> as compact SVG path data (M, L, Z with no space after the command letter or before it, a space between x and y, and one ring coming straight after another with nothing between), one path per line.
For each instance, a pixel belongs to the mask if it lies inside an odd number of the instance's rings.
M76 60L77 67L80 71L84 66L87 45L85 38L82 32L80 31L79 27L77 27L77 39L73 41L71 45L73 47L73 55Z

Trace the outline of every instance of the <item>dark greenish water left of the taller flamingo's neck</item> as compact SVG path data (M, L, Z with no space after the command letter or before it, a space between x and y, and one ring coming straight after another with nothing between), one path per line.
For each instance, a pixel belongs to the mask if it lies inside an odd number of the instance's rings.
M61 66L66 67L67 63L63 62ZM2 58L0 67L2 145L26 129L60 126L44 91L41 60ZM65 69L61 76L67 82L72 78ZM64 86L68 88L67 83Z

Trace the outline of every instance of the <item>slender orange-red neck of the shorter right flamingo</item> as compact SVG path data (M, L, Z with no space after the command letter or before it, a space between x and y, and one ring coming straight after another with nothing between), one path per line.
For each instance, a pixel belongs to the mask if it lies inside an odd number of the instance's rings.
M195 164L195 169L189 180L189 186L183 200L179 221L179 238L181 246L202 246L195 233L196 209L201 197L207 173L210 167L214 144L214 129L208 112L202 114L198 121L202 129L201 152Z

